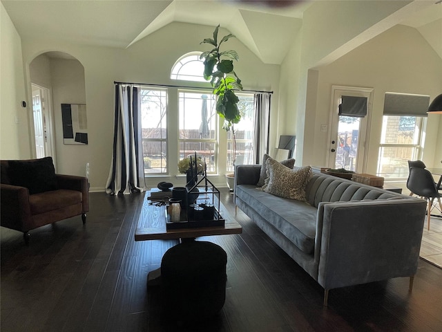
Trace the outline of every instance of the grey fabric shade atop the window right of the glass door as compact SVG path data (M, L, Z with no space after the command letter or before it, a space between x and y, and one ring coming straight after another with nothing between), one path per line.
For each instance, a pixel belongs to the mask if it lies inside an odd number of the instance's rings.
M429 95L385 93L384 116L427 116Z

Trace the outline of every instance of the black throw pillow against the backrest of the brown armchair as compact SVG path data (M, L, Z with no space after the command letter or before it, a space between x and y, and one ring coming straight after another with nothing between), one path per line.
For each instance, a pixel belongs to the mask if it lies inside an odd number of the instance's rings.
M52 157L10 160L8 174L12 185L28 188L31 195L57 189Z

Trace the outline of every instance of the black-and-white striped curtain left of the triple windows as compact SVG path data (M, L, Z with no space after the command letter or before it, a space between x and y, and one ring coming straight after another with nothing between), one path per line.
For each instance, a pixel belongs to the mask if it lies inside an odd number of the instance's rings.
M146 190L138 89L115 84L113 156L106 193L131 194Z

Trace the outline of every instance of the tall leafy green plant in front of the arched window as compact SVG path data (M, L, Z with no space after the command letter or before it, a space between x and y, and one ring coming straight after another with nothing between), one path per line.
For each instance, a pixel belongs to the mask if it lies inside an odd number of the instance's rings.
M224 119L223 128L233 131L233 124L240 122L241 119L238 109L239 98L235 90L242 90L242 84L233 70L233 60L238 61L239 57L235 50L220 50L222 43L235 36L225 35L218 42L219 28L218 25L213 31L213 38L206 38L200 43L214 46L211 50L203 52L200 59L204 59L204 79L210 80L213 94L218 96L215 108L218 115ZM233 136L234 134L233 131Z

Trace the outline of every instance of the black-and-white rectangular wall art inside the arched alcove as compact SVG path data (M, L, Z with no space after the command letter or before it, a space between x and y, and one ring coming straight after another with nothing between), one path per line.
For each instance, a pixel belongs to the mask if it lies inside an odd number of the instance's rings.
M85 104L61 104L64 144L88 144Z

